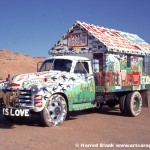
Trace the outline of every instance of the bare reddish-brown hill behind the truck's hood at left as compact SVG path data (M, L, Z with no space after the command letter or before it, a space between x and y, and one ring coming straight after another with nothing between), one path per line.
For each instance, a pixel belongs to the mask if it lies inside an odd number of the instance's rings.
M21 53L13 53L9 50L0 50L0 79L5 80L10 74L36 72L37 62L43 61L45 57L32 57Z

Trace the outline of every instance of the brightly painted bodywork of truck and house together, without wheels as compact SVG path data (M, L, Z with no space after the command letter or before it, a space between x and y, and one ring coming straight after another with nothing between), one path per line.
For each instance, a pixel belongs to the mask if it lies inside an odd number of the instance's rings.
M8 91L22 90L21 96L25 93L25 98L31 92L29 100L34 102L35 112L41 111L46 100L56 93L67 97L69 110L79 110L95 107L95 92L100 97L107 93L104 99L109 100L114 92L150 89L150 45L135 34L77 21L49 54L72 56L61 57L56 65L54 62L59 57L47 59L55 59L53 63L50 61L52 64L45 65L49 69L18 75L10 84L1 87ZM93 68L86 56L91 59ZM69 60L69 66L61 70L66 60ZM76 68L81 62L84 72L79 72L80 67ZM52 66L59 69L53 70ZM20 103L20 106L28 105Z

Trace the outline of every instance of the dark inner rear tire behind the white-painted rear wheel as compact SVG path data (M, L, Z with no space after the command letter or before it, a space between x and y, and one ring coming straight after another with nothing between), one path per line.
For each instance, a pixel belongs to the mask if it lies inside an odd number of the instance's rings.
M127 115L127 109L126 109L126 95L123 95L119 99L119 107L121 114L126 116Z

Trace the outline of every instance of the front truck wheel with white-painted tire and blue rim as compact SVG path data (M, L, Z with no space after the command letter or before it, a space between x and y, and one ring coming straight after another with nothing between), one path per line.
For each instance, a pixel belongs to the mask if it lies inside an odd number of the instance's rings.
M46 102L41 112L41 119L44 126L59 126L67 116L67 103L60 94L52 95Z

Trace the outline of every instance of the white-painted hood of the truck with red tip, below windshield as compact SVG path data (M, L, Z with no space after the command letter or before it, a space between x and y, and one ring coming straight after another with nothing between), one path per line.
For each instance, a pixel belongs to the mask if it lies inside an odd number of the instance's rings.
M33 85L44 85L47 82L53 82L52 79L60 76L60 71L46 71L29 74L21 74L12 78L9 86L13 89L26 88L29 89Z

